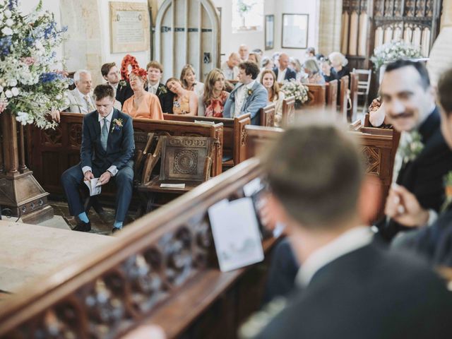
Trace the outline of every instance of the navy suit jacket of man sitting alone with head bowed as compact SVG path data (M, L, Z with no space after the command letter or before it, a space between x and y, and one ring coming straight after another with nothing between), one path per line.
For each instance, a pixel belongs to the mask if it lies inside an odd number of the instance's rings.
M115 128L114 119L122 120L122 127ZM114 165L121 169L129 160L133 159L135 141L133 141L132 118L118 109L113 110L110 123L107 150L100 143L99 113L96 111L85 114L83 117L83 135L81 145L81 167L93 165L102 171Z

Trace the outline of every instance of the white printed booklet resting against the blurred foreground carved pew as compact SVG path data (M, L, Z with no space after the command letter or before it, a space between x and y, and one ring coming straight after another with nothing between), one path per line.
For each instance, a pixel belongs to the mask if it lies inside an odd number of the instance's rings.
M251 198L220 201L208 209L220 270L263 261L261 234Z

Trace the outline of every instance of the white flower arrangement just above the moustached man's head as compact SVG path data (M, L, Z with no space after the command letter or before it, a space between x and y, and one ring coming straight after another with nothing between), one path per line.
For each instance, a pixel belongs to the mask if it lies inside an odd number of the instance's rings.
M404 42L404 41L391 41L382 44L374 49L374 55L370 60L375 66L375 71L378 71L383 64L389 61L395 61L400 58L420 58L422 54L420 47Z

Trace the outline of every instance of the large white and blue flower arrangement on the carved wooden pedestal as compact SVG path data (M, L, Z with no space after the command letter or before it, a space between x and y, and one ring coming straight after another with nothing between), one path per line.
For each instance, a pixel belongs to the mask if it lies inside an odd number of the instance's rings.
M66 28L57 28L54 16L42 11L42 0L25 16L17 0L0 0L0 113L16 116L21 124L54 127L50 111L64 107L69 79L55 49Z

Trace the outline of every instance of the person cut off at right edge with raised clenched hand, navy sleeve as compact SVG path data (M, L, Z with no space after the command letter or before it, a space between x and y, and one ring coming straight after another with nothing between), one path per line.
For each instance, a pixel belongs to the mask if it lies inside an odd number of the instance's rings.
M438 82L438 101L441 106L441 131L452 149L452 69L446 71ZM403 186L393 186L389 198L398 203L388 204L388 215L397 222L413 227L410 232L394 240L393 249L408 249L434 265L452 267L452 172L444 178L446 201L439 218L430 227L429 210L423 208L416 196ZM420 228L417 228L420 227Z

